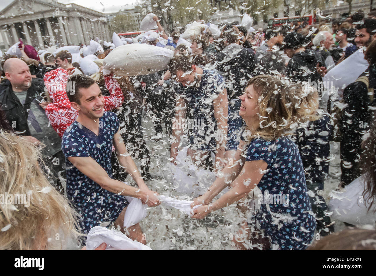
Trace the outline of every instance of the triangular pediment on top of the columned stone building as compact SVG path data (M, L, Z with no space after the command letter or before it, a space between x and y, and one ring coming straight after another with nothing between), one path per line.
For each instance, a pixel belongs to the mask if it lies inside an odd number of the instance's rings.
M15 17L19 15L34 14L36 12L55 9L56 6L42 1L15 0L0 12L0 18Z

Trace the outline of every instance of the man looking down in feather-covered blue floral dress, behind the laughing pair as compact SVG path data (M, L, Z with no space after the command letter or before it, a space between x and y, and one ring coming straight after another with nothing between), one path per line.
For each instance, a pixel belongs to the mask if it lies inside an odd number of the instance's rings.
M182 122L188 119L188 143L191 145L188 154L198 164L213 152L215 162L219 164L223 161L227 136L228 101L223 77L194 65L190 57L184 55L171 59L169 70L185 87L176 101L171 158L176 158Z

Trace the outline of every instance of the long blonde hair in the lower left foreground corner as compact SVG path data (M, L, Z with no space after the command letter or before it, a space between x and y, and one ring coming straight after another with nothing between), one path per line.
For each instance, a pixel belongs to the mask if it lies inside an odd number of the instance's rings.
M82 235L74 210L47 180L41 160L32 143L0 131L0 194L30 194L29 207L0 205L0 229L11 224L0 232L0 250L65 249Z

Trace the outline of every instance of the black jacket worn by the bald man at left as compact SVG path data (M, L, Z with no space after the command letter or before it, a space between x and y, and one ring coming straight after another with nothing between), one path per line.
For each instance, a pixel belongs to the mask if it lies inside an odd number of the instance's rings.
M30 109L30 103L39 97L39 94L44 94L44 85L41 81L33 79L31 86L27 89L25 104L22 105L13 92L11 82L9 80L1 82L0 106L13 131L17 131L23 136L30 136L27 124L29 112L27 110Z

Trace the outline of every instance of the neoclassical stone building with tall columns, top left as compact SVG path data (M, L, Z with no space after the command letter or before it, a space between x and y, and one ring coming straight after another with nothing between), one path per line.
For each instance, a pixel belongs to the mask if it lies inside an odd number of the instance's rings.
M0 12L0 36L5 49L20 38L38 49L87 45L96 37L111 41L105 14L56 0L14 0Z

